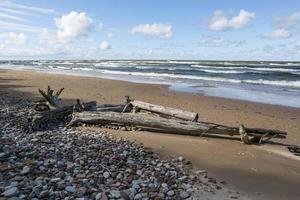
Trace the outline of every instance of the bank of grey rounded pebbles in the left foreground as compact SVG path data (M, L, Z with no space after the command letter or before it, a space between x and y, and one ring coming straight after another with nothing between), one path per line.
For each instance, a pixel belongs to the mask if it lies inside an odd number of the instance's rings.
M101 129L28 132L30 108L0 94L0 199L238 198L183 157L162 159Z

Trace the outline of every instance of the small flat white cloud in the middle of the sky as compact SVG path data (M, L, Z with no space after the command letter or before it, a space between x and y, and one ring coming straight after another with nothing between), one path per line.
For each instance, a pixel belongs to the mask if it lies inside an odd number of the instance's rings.
M155 37L168 39L172 37L172 26L169 24L154 23L140 24L131 29L131 33L143 33Z

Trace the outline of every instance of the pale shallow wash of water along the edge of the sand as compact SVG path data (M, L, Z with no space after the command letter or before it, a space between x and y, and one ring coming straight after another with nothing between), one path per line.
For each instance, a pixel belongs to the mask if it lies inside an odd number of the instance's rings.
M238 86L211 86L212 83L201 83L200 85L191 85L190 83L171 83L169 81L159 81L159 80L151 80L146 77L139 77L134 75L117 75L117 74L102 74L96 73L92 75L89 71L73 71L73 70L62 70L55 69L54 71L40 70L40 69L12 69L11 67L0 66L0 70L16 70L16 71L30 71L37 73L47 73L47 74L56 74L56 75L67 75L67 76L79 76L79 77L90 77L90 78L99 78L99 79L107 79L107 80L115 80L115 81L125 81L136 84L151 84L151 85L164 85L169 90L173 90L174 92L183 92L183 93L192 93L192 94L200 94L208 97L216 97L221 99L228 100L239 100L246 101L250 103L258 103L258 104L266 104L272 106L283 106L290 108L298 108L300 109L300 104L295 103L295 99L291 102L286 102L286 99L282 94L277 96L275 93L266 94L263 91L256 90L247 90L242 89L242 87ZM16 66L17 67L17 66ZM218 84L218 83L216 83ZM184 85L184 86L182 86ZM266 87L266 85L262 85L262 87ZM265 96L266 95L266 96ZM292 98L292 97L291 97ZM271 102L267 102L271 100Z

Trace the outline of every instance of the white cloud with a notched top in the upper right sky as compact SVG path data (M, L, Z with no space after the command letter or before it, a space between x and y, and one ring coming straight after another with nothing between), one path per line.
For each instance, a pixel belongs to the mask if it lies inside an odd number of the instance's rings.
M241 9L237 16L228 19L223 11L217 10L210 20L209 29L212 31L240 29L245 27L254 17L255 13Z

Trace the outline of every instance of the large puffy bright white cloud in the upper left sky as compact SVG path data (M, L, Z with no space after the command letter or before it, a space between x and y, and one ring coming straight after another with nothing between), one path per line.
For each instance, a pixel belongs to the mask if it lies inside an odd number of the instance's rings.
M72 11L61 18L54 19L58 27L57 37L62 40L74 39L85 35L92 25L92 19L86 13Z

